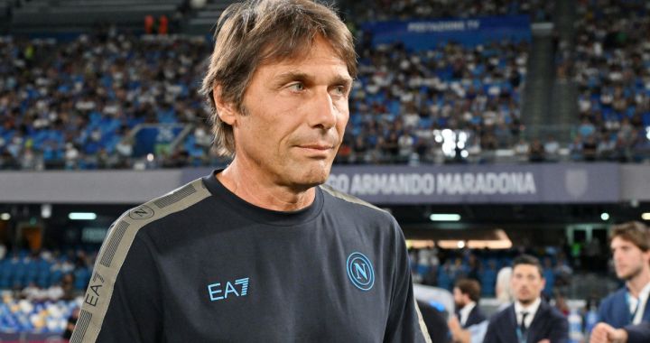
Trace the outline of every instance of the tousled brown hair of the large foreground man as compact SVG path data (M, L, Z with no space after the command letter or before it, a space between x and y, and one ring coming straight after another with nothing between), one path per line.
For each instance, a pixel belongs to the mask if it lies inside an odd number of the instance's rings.
M218 117L213 90L240 114L246 88L255 70L265 63L301 57L322 36L343 60L352 78L357 76L357 54L352 34L334 9L310 0L247 0L229 5L215 30L215 47L200 93L207 98L218 153L233 156L232 126Z

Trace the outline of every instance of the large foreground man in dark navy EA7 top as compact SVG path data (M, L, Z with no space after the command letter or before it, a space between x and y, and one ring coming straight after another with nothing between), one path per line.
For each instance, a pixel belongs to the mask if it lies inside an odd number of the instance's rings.
M404 236L320 186L352 37L307 0L230 5L203 84L228 168L116 221L73 342L424 342Z

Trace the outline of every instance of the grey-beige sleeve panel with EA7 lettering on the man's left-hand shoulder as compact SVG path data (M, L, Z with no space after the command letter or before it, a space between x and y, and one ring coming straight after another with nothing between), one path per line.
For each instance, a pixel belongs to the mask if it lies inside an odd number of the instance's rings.
M138 231L160 218L187 209L210 196L203 182L192 181L172 192L131 209L116 220L99 250L97 262L81 306L79 325L70 342L96 342L104 324L116 278Z

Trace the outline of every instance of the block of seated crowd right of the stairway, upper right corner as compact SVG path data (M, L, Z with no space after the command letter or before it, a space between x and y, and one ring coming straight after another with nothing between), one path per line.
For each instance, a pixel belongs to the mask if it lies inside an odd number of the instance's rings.
M581 1L575 42L560 41L557 76L579 89L571 153L639 161L650 151L650 6L643 0Z

